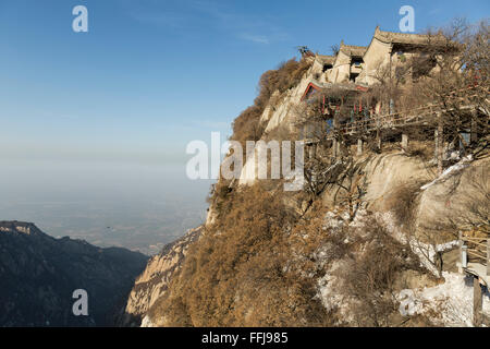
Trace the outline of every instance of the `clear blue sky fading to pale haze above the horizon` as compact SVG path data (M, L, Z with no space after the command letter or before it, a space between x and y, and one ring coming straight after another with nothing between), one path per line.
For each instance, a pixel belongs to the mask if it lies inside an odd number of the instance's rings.
M368 45L378 24L397 31L404 4L422 31L455 16L480 20L489 3L0 0L0 197L28 202L32 189L49 201L61 192L61 205L109 188L110 202L142 198L144 184L204 203L209 183L183 178L186 144L209 142L211 131L224 141L260 74L296 46L329 53L341 39ZM72 31L78 4L88 9L88 33ZM140 166L155 170L138 177ZM0 219L33 217L12 214Z

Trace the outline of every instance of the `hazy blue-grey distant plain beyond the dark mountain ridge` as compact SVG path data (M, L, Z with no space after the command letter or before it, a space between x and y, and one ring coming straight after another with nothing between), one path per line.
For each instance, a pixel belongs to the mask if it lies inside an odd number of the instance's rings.
M2 168L0 220L33 222L56 238L155 254L206 217L210 181L186 180L179 165L75 161L39 169L37 163L17 161ZM107 173L112 177L103 178ZM10 176L29 186L9 185ZM50 185L49 195L44 184L48 179L57 183ZM180 193L182 188L187 190Z

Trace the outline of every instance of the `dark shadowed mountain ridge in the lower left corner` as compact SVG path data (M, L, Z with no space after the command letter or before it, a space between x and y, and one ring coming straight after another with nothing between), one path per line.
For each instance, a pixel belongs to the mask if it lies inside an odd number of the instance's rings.
M147 256L54 239L34 224L0 221L0 326L110 326ZM73 291L88 293L74 316Z

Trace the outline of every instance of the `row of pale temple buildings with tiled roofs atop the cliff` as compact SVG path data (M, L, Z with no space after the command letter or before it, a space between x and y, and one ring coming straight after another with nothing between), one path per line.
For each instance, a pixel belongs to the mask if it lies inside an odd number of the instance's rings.
M378 26L367 47L342 40L335 56L316 55L311 73L316 85L367 87L382 79L409 82L437 69L438 50L442 52L446 45L442 35L383 32Z

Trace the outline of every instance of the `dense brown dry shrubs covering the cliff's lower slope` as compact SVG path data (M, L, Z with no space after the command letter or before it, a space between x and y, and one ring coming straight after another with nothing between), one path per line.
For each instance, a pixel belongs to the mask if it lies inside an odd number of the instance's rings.
M229 204L191 249L173 292L151 317L164 314L166 324L176 326L326 325L313 279L285 267L298 215L258 184Z

